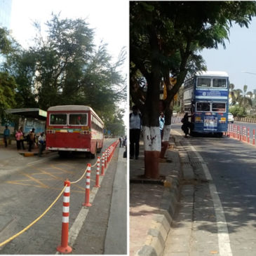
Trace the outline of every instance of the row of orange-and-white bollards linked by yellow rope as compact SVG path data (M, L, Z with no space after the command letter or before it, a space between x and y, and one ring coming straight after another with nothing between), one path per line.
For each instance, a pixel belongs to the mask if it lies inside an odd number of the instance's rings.
M83 206L90 207L90 171L91 168L96 167L96 179L95 179L95 186L97 188L100 188L100 160L102 160L102 169L101 169L101 176L105 175L105 171L107 170L108 163L111 161L112 156L114 154L114 151L116 149L116 146L119 144L119 140L116 140L114 143L112 143L103 153L102 157L98 156L97 161L93 166L91 166L90 163L87 164L86 170L83 172L83 175L81 177L74 181L70 182L68 179L64 182L64 187L62 191L60 191L60 194L55 198L53 203L50 204L50 206L32 222L29 224L25 229L22 229L22 231L18 232L14 236L11 236L10 238L6 239L6 241L3 241L0 243L0 248L7 243L11 242L13 239L17 238L21 234L23 234L27 229L32 227L36 222L41 220L41 218L48 213L50 208L52 208L55 203L58 201L60 196L63 194L63 204L62 204L62 234L61 234L61 244L57 247L58 252L61 253L69 253L72 252L72 248L68 245L69 241L69 198L70 198L70 187L71 184L75 184L83 179L83 177L86 175L86 196L85 196L85 203L83 203Z

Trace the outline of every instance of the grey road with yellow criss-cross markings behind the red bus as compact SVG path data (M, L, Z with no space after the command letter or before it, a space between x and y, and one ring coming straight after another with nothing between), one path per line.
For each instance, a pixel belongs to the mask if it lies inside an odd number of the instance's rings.
M112 142L114 139L106 140L104 149ZM88 210L86 222L74 245L74 254L102 254L104 251L117 156L118 150L109 164L102 187L93 201L93 207ZM48 154L42 159L22 159L20 156L13 159L7 155L5 159L1 159L0 242L39 217L58 196L64 180L79 179L86 169L86 164L95 163L95 160L85 159L82 155L62 159L58 154ZM94 184L95 168L91 173L90 187ZM72 227L84 201L85 177L71 186L69 227ZM62 197L33 227L0 248L0 254L55 254L56 247L60 245L61 227ZM88 244L84 246L83 236L90 237L92 243L86 239ZM82 245L79 238L82 239Z

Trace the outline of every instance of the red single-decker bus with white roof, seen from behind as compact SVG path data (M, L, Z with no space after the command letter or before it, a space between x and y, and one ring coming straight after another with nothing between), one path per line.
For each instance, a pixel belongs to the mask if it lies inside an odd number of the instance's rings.
M46 149L65 154L84 151L92 158L103 147L104 123L91 107L65 105L49 107L46 119Z

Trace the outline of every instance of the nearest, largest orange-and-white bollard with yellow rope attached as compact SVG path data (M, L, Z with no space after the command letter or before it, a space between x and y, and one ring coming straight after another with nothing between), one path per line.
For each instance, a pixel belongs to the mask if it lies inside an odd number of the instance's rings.
M70 182L65 180L65 191L63 194L63 210L62 210L62 234L61 245L58 246L58 252L69 253L72 248L67 244L69 241L69 198L70 198Z

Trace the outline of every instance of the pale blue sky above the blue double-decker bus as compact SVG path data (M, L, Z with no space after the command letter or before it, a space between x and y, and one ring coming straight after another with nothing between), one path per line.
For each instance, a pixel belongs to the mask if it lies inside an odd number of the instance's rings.
M252 19L249 28L233 25L230 29L226 49L203 50L201 55L206 60L209 71L225 71L229 74L229 82L235 89L256 90L256 18ZM245 73L248 72L248 73ZM253 74L249 74L253 73Z

